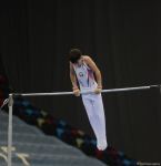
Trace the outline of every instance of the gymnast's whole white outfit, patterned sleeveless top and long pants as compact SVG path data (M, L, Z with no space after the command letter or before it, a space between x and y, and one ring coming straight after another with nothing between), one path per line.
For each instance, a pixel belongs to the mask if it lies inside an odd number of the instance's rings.
M93 71L83 62L73 64L74 72L82 92L93 91L97 87ZM108 146L105 134L105 117L101 94L82 94L82 101L97 137L97 147L104 151Z

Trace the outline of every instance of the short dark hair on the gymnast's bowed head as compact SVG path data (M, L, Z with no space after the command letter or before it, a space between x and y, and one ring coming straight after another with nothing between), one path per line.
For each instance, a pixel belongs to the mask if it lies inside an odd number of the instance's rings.
M79 49L71 49L69 52L69 61L71 63L76 63L80 59L81 55L82 53Z

